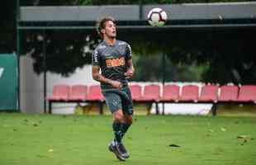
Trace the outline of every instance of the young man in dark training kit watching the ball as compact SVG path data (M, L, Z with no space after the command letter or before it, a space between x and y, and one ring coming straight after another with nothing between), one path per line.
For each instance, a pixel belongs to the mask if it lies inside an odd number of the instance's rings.
M130 45L116 40L116 24L113 18L104 17L97 22L97 32L102 37L92 54L92 78L101 82L102 94L113 115L114 139L108 148L116 158L129 158L121 139L132 124L133 106L127 78L132 77Z

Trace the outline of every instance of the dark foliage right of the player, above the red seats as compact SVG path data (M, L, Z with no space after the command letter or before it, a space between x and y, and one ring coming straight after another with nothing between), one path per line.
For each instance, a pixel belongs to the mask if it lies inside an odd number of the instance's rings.
M149 58L149 54L164 53L167 55L166 75L170 76L166 80L249 84L255 83L256 79L255 49L250 41L254 40L255 34L253 29L145 30L129 35L127 40L132 43L136 54L144 56L136 67L140 73L141 70L151 70L150 73L141 73L145 75L141 77L148 80L160 80L159 75L163 74L163 70L157 69L162 68L161 59Z

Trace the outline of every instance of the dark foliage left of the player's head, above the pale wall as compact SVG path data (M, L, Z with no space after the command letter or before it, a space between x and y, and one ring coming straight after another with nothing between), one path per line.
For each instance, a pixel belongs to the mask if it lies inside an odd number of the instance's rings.
M45 36L46 71L69 76L76 68L91 64L92 50L98 43L91 31L46 31ZM44 72L42 31L24 33L21 43L22 54L31 54L35 60L34 71Z

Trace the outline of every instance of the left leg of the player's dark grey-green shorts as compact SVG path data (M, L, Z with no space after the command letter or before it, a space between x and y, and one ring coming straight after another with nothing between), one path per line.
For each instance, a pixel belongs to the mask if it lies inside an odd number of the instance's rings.
M102 94L104 95L107 106L112 114L122 109L120 95L116 92L102 92Z

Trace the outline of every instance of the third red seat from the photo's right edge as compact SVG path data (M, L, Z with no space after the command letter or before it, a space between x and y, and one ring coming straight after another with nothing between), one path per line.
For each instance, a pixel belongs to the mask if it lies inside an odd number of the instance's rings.
M206 85L201 87L201 95L199 101L213 101L218 100L218 89L216 85Z

